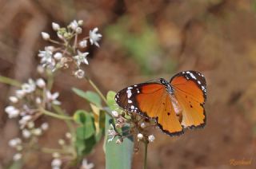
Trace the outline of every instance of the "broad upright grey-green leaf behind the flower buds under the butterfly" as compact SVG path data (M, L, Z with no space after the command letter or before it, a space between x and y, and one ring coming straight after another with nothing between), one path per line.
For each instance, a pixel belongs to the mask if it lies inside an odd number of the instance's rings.
M115 92L108 92L106 99L109 107L114 108L114 96ZM113 110L113 109L112 109ZM115 143L117 138L108 142L107 141L107 131L110 128L110 124L113 123L113 119L106 114L106 139L105 139L105 149L106 149L106 168L107 169L130 169L132 163L132 155L134 152L134 142L132 137L129 139L124 139L123 143Z

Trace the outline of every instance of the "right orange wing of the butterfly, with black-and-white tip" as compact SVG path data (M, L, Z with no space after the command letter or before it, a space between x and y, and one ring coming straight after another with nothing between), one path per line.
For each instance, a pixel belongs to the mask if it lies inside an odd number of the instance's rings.
M182 108L182 127L198 128L206 124L206 80L201 73L186 71L170 80L174 96Z

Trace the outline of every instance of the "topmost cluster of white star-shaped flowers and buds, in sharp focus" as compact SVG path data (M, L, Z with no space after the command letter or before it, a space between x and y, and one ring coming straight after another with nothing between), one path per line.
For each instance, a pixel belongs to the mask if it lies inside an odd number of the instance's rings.
M52 23L52 29L57 33L59 41L55 41L50 37L49 33L42 32L42 38L50 41L56 46L46 46L44 50L40 50L38 57L41 57L41 64L43 67L52 71L61 68L69 68L72 63L76 66L74 76L81 79L85 76L81 65L89 65L87 60L88 52L84 51L87 47L87 41L90 45L98 45L102 34L98 33L98 28L89 31L89 36L83 37L78 41L78 35L82 33L83 21L74 20L70 22L69 26L61 27L58 23Z

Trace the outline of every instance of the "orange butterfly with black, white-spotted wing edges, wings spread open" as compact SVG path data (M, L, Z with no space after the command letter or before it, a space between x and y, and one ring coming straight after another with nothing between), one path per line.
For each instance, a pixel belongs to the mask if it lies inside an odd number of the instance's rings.
M206 79L196 71L177 73L170 82L159 78L123 88L114 99L127 112L156 120L170 136L206 125Z

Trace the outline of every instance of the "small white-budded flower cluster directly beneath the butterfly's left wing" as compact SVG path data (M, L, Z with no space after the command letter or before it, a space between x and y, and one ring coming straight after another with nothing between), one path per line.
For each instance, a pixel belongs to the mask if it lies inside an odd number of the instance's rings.
M129 136L136 136L138 142L154 142L154 136L149 135L147 128L155 127L154 120L147 120L146 118L134 114L132 112L124 112L119 109L111 112L114 118L114 125L110 124L110 129L108 130L108 142L114 140L118 137L116 143L122 143L123 139ZM124 128L129 128L124 130Z

